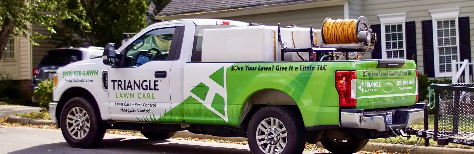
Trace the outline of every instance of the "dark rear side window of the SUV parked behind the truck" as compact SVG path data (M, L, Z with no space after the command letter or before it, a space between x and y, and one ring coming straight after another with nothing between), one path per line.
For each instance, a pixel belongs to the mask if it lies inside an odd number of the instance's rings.
M50 50L41 59L42 65L66 65L82 60L82 51L73 49Z

